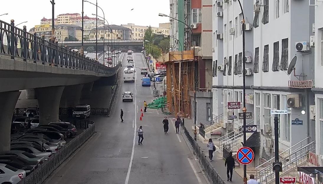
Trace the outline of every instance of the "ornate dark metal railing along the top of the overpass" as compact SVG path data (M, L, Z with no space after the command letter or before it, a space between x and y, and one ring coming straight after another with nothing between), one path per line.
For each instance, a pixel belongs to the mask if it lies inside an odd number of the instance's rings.
M37 34L27 32L15 27L12 20L6 23L0 20L0 54L10 56L11 59L20 58L23 61L33 60L36 64L93 71L102 74L114 74L120 64L108 68L94 59L86 58L71 49L59 46L45 40L45 37L37 37Z

